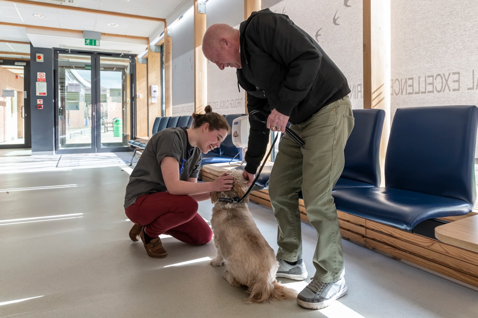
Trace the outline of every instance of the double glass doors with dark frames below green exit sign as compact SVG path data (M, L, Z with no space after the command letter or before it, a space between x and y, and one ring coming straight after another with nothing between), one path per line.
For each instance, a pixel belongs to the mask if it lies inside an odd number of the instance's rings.
M56 153L130 151L131 61L125 54L55 50Z

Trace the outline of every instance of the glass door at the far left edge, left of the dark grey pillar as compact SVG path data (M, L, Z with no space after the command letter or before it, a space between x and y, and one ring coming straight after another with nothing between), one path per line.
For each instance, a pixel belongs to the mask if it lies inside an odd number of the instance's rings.
M31 147L29 65L0 58L0 149Z

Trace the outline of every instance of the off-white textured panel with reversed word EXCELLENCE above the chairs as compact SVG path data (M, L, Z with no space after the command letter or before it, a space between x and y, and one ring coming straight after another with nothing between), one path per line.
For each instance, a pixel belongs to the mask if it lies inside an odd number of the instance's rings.
M392 119L399 107L478 104L477 12L478 1L391 1Z

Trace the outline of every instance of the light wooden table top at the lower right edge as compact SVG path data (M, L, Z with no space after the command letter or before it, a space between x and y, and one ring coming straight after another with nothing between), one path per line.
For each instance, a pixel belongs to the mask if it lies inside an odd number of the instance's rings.
M478 252L478 215L435 227L440 241Z

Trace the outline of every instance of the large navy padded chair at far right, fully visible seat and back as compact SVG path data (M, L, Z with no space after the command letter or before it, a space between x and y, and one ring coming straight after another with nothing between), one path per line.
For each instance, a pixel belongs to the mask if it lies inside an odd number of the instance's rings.
M385 187L333 192L337 210L412 230L465 215L476 200L476 106L399 108L385 158Z

